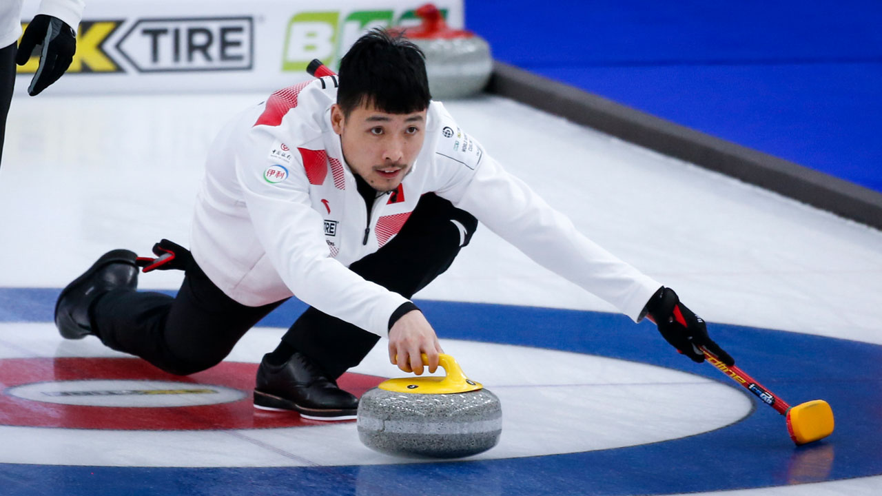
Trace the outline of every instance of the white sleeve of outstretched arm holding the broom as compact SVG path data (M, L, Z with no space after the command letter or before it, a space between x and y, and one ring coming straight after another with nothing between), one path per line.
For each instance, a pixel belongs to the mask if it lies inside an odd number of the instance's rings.
M527 184L483 154L456 207L537 263L612 304L634 321L662 285L607 252Z

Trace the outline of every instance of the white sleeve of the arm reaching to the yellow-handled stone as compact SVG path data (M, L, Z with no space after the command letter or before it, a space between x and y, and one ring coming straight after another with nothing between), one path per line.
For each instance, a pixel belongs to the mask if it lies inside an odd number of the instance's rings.
M388 334L389 318L408 300L365 281L332 259L325 243L321 216L312 209L309 181L300 157L288 166L267 159L273 135L265 126L252 128L236 153L236 175L243 188L251 223L266 256L288 288L306 304L380 336ZM273 172L270 173L271 168Z

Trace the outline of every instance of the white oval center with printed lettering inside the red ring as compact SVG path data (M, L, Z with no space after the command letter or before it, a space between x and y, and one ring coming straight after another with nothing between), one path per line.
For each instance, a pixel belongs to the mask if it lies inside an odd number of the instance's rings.
M191 407L245 397L231 387L165 380L57 380L10 387L6 394L32 402L120 408Z

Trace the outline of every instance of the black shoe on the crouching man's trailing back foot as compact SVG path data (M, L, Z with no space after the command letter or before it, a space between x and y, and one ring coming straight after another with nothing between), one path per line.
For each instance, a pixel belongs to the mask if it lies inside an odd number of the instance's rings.
M108 289L138 288L137 258L128 250L104 253L89 270L62 289L55 311L58 332L67 339L82 339L93 334L89 307Z

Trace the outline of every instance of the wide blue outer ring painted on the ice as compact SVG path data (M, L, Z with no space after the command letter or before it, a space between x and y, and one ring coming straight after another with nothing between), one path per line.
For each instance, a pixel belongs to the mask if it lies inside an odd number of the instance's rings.
M0 289L0 322L46 321L57 289ZM15 307L13 308L13 302ZM706 364L672 352L654 325L622 315L504 304L420 301L445 338L561 349L660 365L737 387ZM290 301L261 326L287 327L305 306ZM882 346L756 327L711 324L738 364L791 404L825 399L836 414L827 440L795 447L784 419L755 402L744 420L677 440L485 461L284 468L138 468L0 464L31 496L183 493L669 494L792 485L882 474ZM744 392L745 395L748 393ZM684 402L691 398L684 397ZM721 405L725 408L725 405ZM585 419L590 422L590 418ZM542 422L537 418L536 422ZM189 488L189 489L188 489Z

